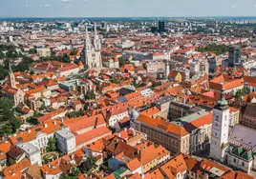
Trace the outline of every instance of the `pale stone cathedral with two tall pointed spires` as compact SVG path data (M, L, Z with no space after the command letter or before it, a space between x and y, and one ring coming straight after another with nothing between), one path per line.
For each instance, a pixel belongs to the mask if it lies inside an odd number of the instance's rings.
M101 41L96 32L96 24L95 24L95 36L94 39L91 40L88 34L88 30L86 27L86 36L85 36L85 44L84 44L84 64L88 69L96 69L102 67L102 59L101 59Z

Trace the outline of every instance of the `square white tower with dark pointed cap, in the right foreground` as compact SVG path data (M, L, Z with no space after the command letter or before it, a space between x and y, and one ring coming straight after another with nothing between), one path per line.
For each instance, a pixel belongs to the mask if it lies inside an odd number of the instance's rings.
M224 161L224 150L228 147L229 106L224 99L222 89L221 99L213 109L210 157Z

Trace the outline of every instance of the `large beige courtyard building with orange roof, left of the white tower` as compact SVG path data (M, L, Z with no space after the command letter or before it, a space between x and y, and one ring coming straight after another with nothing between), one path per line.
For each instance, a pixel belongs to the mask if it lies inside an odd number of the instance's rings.
M178 102L170 103L166 99L161 102L162 104L157 101L162 107L161 110L151 108L156 113L151 109L141 112L135 120L136 129L146 133L149 140L173 153L194 153L204 149L210 141L212 113ZM166 109L163 103L169 104L169 108Z

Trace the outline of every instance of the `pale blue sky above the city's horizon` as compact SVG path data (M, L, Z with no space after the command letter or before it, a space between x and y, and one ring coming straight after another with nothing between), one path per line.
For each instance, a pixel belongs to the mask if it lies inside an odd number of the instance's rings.
M256 0L0 0L0 17L256 16Z

